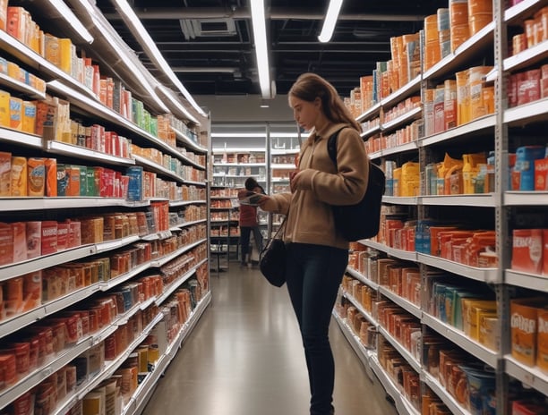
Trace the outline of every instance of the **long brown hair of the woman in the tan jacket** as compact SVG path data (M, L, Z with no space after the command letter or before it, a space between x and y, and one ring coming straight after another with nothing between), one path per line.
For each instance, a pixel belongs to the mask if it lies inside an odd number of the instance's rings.
M338 96L337 89L316 73L306 72L299 76L289 89L288 95L307 102L313 102L319 97L323 114L330 122L349 123L355 130L362 131L362 126L355 121L343 100Z

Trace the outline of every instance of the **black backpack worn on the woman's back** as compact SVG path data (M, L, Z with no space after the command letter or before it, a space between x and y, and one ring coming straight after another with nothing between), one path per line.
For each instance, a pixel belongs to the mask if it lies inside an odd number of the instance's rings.
M340 130L339 130L340 131ZM337 139L335 132L328 140L330 158L337 167ZM355 205L332 206L335 225L348 241L372 238L379 233L381 203L385 188L385 176L381 167L369 163L369 180L364 199Z

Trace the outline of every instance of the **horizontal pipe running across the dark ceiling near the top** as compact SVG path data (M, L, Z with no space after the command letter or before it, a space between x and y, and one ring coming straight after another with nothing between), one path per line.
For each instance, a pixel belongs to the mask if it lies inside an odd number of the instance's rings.
M251 12L237 9L228 12L219 7L158 7L155 10L139 8L134 10L141 20L174 20L174 19L251 19ZM272 8L267 13L270 20L312 20L322 21L324 13L311 13L308 9ZM117 13L105 13L108 20L119 20ZM339 21L424 21L423 14L374 14L356 13L339 14Z

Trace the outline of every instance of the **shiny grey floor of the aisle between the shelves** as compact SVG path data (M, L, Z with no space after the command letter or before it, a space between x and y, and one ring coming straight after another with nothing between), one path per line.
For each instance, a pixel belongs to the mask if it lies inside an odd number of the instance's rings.
M309 389L298 328L285 286L231 263L211 273L212 301L167 368L146 415L307 415ZM338 415L395 415L378 380L331 321Z

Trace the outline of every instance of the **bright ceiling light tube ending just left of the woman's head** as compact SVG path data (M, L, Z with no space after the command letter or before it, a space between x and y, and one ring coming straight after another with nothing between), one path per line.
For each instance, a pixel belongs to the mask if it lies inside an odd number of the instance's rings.
M257 71L261 95L265 99L271 98L269 48L266 39L266 21L264 14L264 0L251 0L253 39L255 41L255 55L257 56Z

